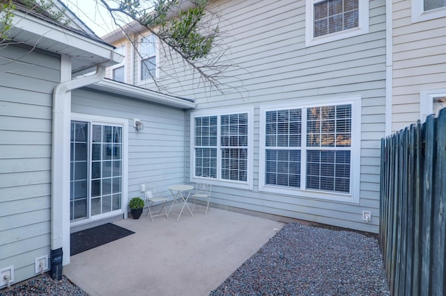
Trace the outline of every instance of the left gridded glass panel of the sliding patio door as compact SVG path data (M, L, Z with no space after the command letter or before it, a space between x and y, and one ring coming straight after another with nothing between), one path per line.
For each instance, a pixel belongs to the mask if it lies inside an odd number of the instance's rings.
M88 217L89 124L71 122L70 220Z

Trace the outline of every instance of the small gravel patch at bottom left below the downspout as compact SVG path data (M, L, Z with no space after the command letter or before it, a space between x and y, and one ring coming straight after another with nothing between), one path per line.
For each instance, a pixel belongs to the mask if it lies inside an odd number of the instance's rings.
M83 290L72 284L63 276L60 281L51 279L48 275L37 277L24 283L0 290L0 296L88 296Z

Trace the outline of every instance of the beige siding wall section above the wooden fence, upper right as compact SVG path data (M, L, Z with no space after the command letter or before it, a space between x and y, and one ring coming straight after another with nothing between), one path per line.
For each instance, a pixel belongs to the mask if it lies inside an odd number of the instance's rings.
M446 13L414 22L413 4L393 1L392 6L392 131L420 120L420 92L446 89Z

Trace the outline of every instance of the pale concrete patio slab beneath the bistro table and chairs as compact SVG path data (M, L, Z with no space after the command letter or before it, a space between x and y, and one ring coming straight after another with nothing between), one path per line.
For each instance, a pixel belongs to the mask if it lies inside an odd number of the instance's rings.
M89 295L209 295L284 226L218 208L176 222L174 210L114 222L135 233L71 256L63 273Z

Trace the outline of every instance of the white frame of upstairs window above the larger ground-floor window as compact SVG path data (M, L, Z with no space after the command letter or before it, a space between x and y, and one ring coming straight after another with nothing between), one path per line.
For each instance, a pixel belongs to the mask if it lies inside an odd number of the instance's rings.
M331 33L323 36L314 36L314 4L325 0L306 0L305 16L305 46L312 47L317 44L332 42L369 33L369 0L358 0L359 19L358 26L345 31Z

